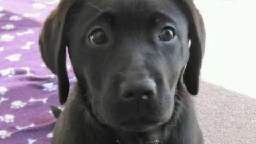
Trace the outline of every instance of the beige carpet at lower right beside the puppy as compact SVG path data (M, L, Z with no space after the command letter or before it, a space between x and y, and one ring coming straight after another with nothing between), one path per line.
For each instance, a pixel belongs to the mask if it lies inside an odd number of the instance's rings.
M256 143L256 99L202 82L195 106L206 144Z

